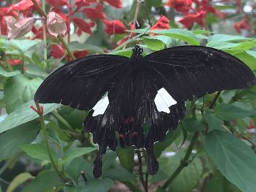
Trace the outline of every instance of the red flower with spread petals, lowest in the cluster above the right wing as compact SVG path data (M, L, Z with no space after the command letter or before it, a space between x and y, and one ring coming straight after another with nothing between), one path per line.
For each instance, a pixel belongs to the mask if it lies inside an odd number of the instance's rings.
M200 11L195 14L188 14L178 22L183 24L185 27L190 28L194 22L198 23L200 26L203 26L204 18L206 18L206 12Z

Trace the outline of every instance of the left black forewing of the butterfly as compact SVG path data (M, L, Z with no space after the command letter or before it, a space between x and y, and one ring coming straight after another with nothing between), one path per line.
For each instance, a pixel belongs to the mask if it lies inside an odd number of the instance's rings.
M116 74L128 61L118 55L92 55L72 61L42 82L34 100L89 110L114 85Z

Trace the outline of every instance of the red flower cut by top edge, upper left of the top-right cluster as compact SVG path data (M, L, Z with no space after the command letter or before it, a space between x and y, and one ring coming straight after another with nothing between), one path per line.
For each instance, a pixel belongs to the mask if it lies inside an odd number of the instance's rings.
M189 12L192 6L192 0L168 0L165 5L174 7L177 12Z

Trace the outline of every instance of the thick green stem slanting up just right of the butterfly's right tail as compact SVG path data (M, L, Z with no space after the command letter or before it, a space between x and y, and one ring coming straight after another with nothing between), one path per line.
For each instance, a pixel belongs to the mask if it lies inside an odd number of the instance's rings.
M199 132L196 131L189 144L187 153L185 154L184 158L181 160L181 163L179 164L177 169L173 172L172 175L170 175L169 179L165 182L162 188L166 189L173 182L173 180L175 180L175 178L178 176L181 170L184 169L185 166L187 166L187 161L189 160L189 156L192 153L193 147L195 146L195 143L197 142L198 137L199 137Z

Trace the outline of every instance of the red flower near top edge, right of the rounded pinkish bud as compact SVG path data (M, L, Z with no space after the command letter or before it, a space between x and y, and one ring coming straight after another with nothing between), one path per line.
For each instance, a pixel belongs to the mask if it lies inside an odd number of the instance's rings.
M82 9L80 12L83 12L88 18L91 18L93 20L107 18L107 15L105 14L105 12L103 12L102 4L98 4L95 8L86 7Z

